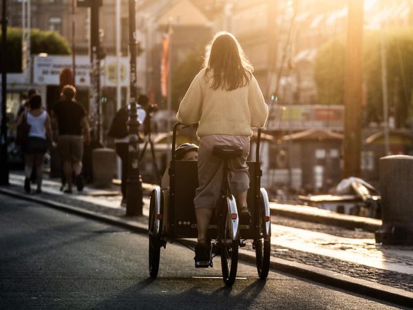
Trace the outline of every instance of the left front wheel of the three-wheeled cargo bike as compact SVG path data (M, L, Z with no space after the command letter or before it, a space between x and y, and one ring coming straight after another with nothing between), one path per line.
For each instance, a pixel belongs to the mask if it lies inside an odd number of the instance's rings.
M155 191L151 194L151 203L149 205L149 223L148 223L148 234L149 234L149 275L151 278L156 278L159 271L159 261L160 261L160 236L156 236L155 230L155 220L156 220L156 203L155 203Z

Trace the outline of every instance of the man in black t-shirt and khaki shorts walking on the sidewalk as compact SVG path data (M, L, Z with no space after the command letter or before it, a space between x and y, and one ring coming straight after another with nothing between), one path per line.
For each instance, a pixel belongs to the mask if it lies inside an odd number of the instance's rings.
M82 175L83 142L90 142L89 123L83 105L75 99L76 88L65 85L61 100L54 105L52 116L58 130L58 152L63 161L66 188L63 192L72 194L73 175L78 192L84 187Z

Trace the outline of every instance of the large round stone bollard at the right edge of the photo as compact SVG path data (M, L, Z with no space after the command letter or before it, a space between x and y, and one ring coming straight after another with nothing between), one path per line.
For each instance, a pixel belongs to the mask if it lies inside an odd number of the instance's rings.
M413 156L380 158L381 219L376 242L413 245Z

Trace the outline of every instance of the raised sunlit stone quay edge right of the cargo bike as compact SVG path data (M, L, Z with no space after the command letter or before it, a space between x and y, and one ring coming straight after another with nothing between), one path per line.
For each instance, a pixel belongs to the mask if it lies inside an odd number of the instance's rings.
M365 218L363 216L352 216L348 214L336 214L326 209L300 205L282 205L270 203L271 215L286 216L295 220L319 223L343 227L347 229L363 229L375 232L381 228L381 220Z

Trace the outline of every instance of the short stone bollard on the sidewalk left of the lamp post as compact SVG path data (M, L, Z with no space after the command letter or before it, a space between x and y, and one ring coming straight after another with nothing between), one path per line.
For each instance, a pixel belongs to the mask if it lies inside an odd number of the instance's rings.
M108 148L94 149L92 151L92 170L94 187L111 187L116 174L115 151Z

